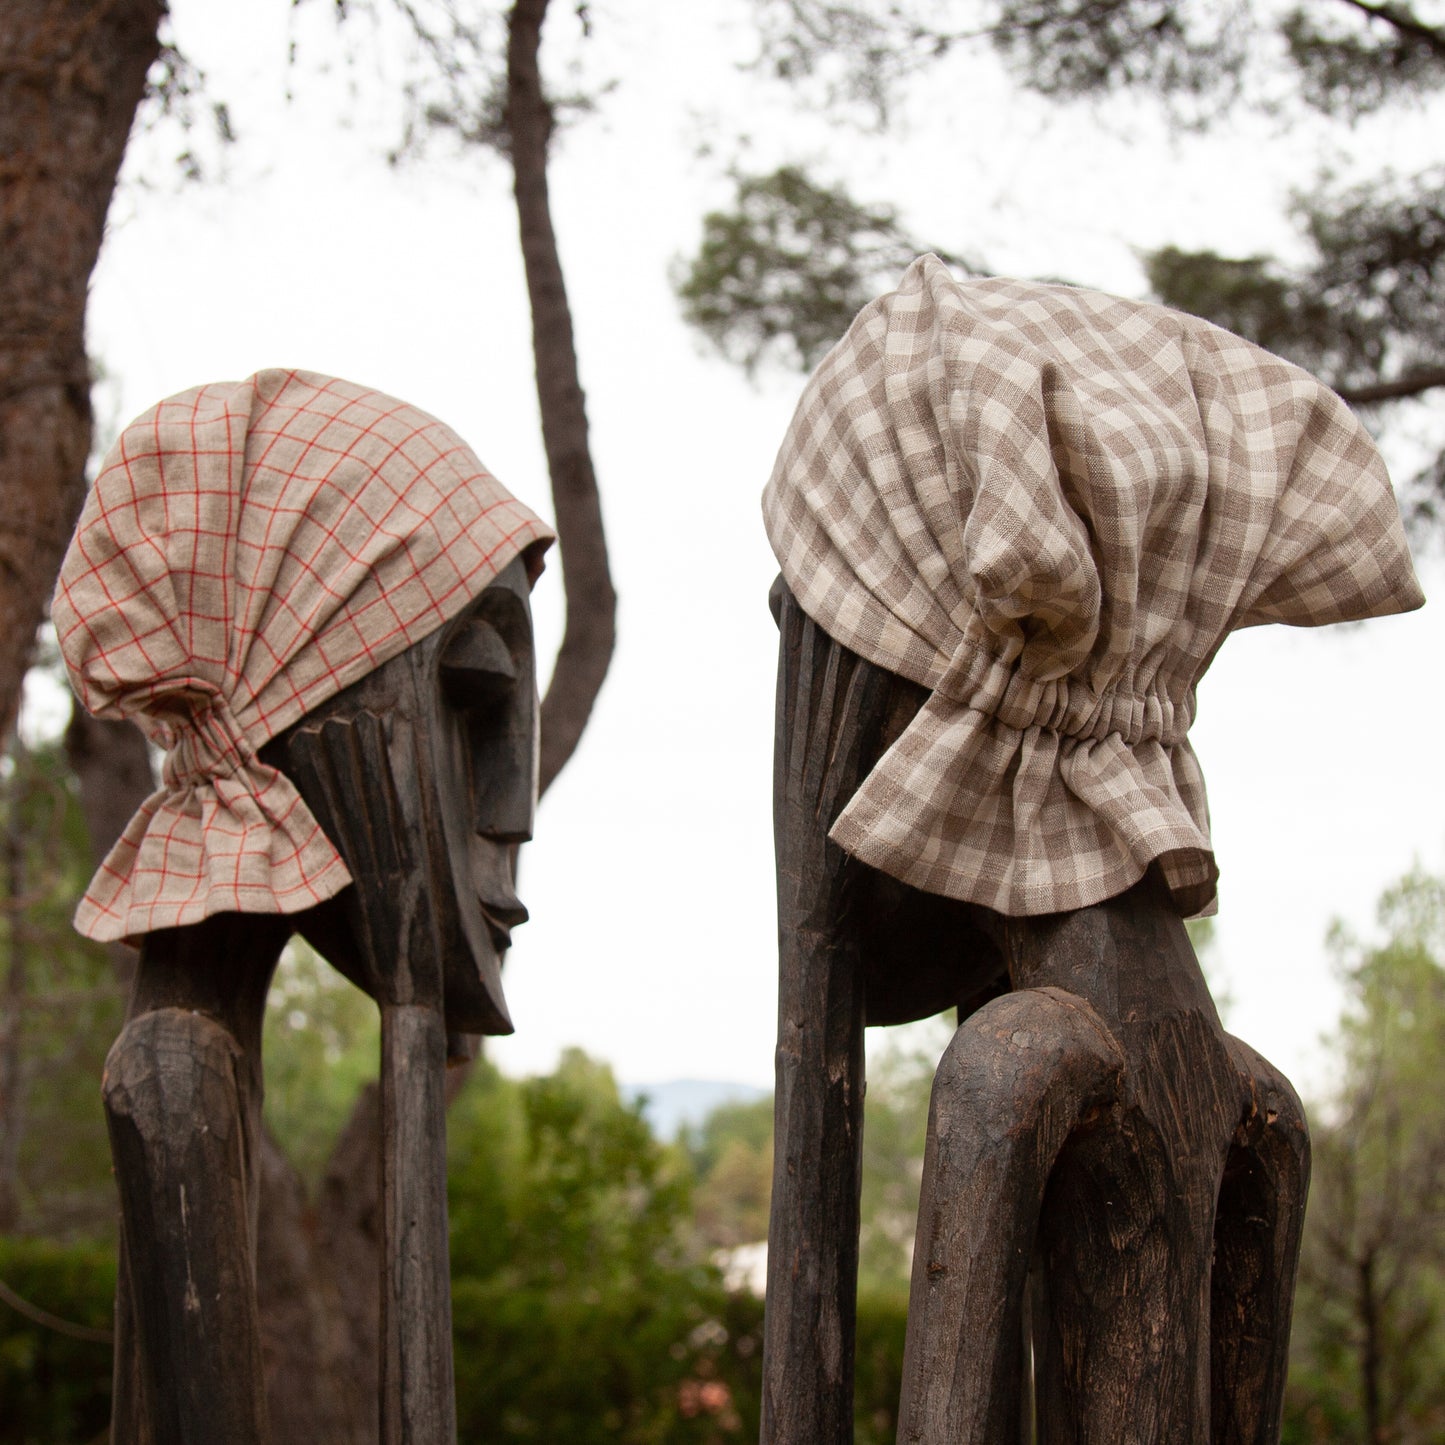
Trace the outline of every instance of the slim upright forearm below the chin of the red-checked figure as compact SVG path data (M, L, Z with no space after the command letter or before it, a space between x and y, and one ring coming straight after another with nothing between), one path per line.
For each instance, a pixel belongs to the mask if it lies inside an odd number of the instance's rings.
M455 1445L447 1244L447 1029L381 1009L381 1445Z

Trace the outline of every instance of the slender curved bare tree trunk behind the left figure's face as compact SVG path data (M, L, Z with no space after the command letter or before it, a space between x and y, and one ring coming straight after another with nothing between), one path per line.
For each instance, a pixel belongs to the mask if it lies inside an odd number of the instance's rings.
M587 727L613 657L617 617L597 473L587 439L587 407L577 368L572 312L548 198L546 162L553 118L538 65L546 9L548 0L517 0L507 19L507 133L513 195L527 299L532 303L542 439L552 477L558 546L566 574L566 626L552 681L542 699L538 788L543 793L572 756Z

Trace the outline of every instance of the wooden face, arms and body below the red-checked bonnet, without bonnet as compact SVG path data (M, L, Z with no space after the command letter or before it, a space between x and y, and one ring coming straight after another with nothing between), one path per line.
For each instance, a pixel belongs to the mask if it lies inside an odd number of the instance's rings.
M444 1072L461 1036L512 1029L500 962L526 919L513 861L536 782L527 595L517 558L452 621L262 750L351 887L305 913L223 913L143 941L104 1085L124 1241L117 1445L267 1438L260 1035L293 932L381 1010L380 1438L455 1439Z

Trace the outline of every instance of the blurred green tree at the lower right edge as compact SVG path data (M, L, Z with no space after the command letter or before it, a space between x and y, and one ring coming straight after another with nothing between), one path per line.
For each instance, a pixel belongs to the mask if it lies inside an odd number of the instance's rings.
M1445 1433L1445 880L1403 879L1380 926L1335 936L1350 1007L1315 1110L1289 1415L1299 1441L1426 1445Z

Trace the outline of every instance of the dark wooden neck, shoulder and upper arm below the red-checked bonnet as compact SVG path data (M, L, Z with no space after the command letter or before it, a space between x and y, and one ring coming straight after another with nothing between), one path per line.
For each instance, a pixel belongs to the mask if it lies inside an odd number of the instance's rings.
M121 1214L116 1445L264 1442L254 1240L266 988L290 929L147 936L103 1097Z

